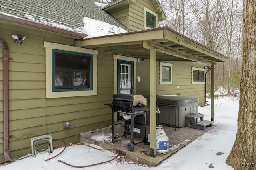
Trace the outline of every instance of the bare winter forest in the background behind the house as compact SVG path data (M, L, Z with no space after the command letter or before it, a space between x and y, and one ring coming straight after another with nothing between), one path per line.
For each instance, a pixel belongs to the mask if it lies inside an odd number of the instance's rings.
M168 26L178 33L210 47L227 57L229 63L216 63L215 89L231 94L240 89L242 65L242 0L159 0ZM209 65L210 66L210 65ZM209 69L206 69L206 72ZM210 93L210 72L206 74L206 93Z

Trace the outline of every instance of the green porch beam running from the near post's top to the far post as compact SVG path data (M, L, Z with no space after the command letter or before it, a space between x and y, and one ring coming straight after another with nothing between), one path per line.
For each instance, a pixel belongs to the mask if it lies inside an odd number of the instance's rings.
M188 54L188 53L182 52L178 49L174 49L172 47L164 46L160 43L152 43L150 41L143 41L143 47L147 48L147 49L156 49L156 51L159 51L161 53L165 53L165 54L168 54L168 55L180 57L180 58L183 58L183 59L188 59L188 60L191 60L191 61L200 61L200 62L204 62L204 63L215 64L214 61L204 59L202 57L198 57L198 56L195 56L195 55L192 55L192 54Z

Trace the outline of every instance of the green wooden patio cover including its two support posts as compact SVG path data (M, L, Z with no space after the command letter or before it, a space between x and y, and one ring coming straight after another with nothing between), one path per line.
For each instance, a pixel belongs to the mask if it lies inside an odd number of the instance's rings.
M75 41L76 47L150 61L150 157L156 157L156 61L196 62L211 66L211 93L214 94L214 64L228 57L177 33L169 27L92 37ZM214 100L211 100L214 106ZM211 107L214 121L214 107ZM202 135L202 134L201 134Z

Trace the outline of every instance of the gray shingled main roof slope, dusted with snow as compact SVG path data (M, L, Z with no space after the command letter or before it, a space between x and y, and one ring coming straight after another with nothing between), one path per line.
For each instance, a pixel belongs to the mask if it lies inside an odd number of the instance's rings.
M97 0L0 0L0 12L37 23L83 33L85 17L129 31L120 21L97 6Z

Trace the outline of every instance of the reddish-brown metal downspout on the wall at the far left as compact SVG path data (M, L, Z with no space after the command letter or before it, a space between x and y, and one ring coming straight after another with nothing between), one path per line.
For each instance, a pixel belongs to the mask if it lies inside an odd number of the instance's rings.
M1 58L4 65L4 136L1 139L4 139L4 161L6 163L12 163L12 157L9 151L9 60L13 59L9 58L8 45L2 38L0 38L0 45L4 50L3 58Z

